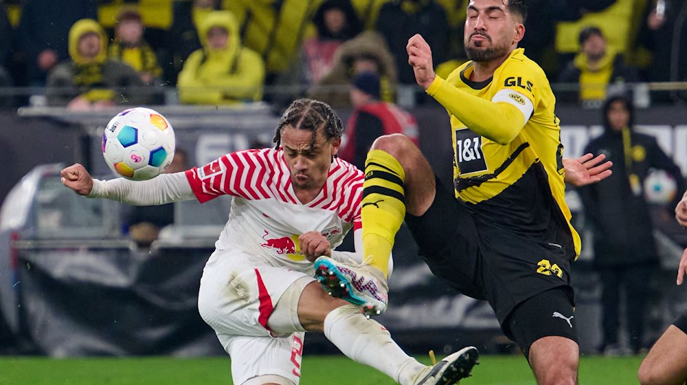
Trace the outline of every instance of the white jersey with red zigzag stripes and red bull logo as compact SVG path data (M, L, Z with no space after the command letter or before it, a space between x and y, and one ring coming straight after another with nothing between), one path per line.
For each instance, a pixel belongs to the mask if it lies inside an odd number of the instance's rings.
M187 170L186 177L201 203L234 197L216 248L243 248L267 265L309 273L312 263L300 252L301 234L319 231L335 248L349 230L361 227L363 172L339 158L319 195L305 204L296 199L283 152L274 148L230 153Z

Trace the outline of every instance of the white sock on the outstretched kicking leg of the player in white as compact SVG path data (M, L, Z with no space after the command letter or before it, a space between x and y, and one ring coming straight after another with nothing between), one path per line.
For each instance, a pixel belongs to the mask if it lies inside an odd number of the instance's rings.
M385 327L365 318L355 305L331 311L324 319L324 336L348 358L372 366L399 384L410 384L425 368L398 347Z

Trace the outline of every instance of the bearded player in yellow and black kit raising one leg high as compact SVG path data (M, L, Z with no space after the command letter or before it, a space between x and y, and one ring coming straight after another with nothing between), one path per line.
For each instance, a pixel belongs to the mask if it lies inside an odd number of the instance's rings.
M405 219L433 274L488 300L539 384L575 384L578 344L570 263L580 237L570 224L565 181L610 175L601 155L563 159L555 98L537 63L517 48L523 0L471 0L464 45L471 59L447 79L433 71L422 36L407 52L417 83L447 109L453 188L403 135L379 137L365 163L361 266L326 257L316 275L343 283L346 298L383 311L387 262ZM362 300L361 300L362 298Z

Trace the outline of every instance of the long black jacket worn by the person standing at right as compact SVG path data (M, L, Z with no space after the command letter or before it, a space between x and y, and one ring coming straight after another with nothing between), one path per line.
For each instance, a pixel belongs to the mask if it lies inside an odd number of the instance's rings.
M657 261L653 225L643 190L633 194L628 175L634 173L644 186L650 168L666 170L677 181L675 207L684 191L679 167L658 146L655 138L630 131L631 170L627 169L622 134L610 129L587 144L585 153L603 153L613 162L613 175L598 184L579 188L587 225L594 234L596 265L625 265ZM645 156L642 156L642 148Z

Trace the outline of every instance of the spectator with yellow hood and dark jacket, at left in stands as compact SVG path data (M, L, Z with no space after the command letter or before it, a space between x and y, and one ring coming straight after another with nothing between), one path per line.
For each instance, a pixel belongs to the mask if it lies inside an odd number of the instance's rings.
M71 60L48 75L45 96L51 106L72 110L144 104L148 93L133 67L107 58L108 38L93 19L81 19L69 30Z

